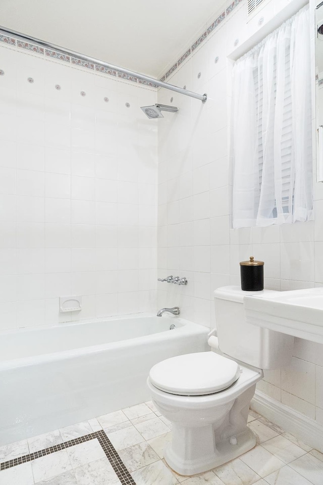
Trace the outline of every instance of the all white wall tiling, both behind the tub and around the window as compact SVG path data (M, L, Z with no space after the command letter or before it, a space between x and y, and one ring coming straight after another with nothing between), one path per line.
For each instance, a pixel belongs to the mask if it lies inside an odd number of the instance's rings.
M148 88L0 46L1 328L174 305L213 327L213 290L239 284L251 254L265 261L267 288L323 284L321 184L314 222L230 229L227 56L282 7L272 0L248 24L237 7L169 79L207 103L159 90L180 110L160 121L139 109L156 102ZM159 277L188 285L158 283L156 301L157 263ZM69 294L83 295L78 316L58 313ZM323 423L322 355L296 340L290 366L265 372L259 390Z

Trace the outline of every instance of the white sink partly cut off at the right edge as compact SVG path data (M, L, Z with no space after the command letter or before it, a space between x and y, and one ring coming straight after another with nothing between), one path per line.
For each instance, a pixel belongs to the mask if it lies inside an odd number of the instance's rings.
M246 296L246 321L323 344L323 287Z

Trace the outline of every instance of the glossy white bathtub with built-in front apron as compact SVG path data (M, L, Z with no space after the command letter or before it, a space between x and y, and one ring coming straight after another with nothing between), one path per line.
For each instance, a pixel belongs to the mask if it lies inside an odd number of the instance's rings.
M151 366L207 350L208 330L130 315L2 331L0 446L149 400Z

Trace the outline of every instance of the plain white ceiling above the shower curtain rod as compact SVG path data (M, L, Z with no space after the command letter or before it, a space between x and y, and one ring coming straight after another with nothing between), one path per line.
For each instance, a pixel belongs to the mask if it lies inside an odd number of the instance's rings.
M159 77L223 0L1 0L0 24Z

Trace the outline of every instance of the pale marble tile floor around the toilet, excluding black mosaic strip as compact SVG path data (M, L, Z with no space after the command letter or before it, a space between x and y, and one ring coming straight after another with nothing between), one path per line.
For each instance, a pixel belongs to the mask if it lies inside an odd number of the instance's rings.
M0 485L323 485L323 454L253 411L248 423L255 448L206 473L180 476L163 459L171 423L146 402L0 447L2 463L103 429L131 481L117 476L94 438L0 471Z

